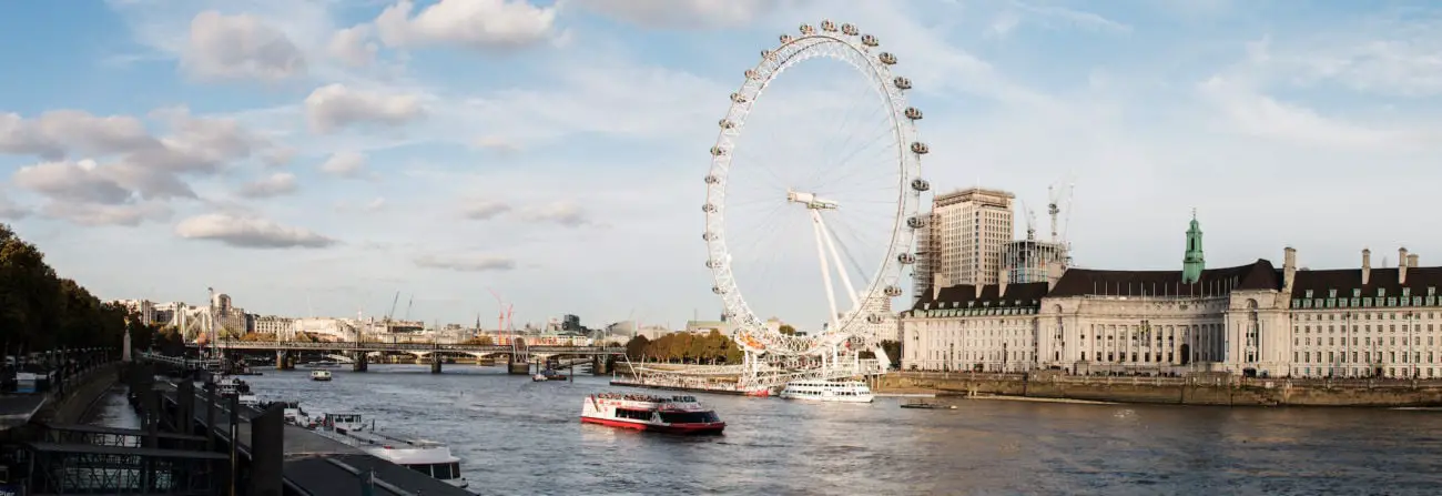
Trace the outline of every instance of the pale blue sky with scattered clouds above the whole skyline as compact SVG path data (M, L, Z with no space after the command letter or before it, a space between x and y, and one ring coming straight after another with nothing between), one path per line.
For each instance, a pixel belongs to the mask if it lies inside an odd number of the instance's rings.
M105 298L384 314L402 291L490 322L493 288L518 322L678 326L718 313L699 205L727 94L833 19L916 82L937 190L1008 189L1045 225L1074 177L1080 265L1178 267L1193 208L1210 265L1430 265L1442 9L1360 4L10 1L0 218ZM779 143L816 130L777 115L851 110L842 78L783 81L754 115ZM813 258L748 284L810 319Z

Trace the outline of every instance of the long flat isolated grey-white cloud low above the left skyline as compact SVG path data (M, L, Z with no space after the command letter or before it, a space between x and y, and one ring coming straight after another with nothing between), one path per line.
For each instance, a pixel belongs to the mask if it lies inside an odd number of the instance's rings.
M236 248L324 248L336 244L307 229L229 213L192 216L180 221L174 232L180 238L211 239Z

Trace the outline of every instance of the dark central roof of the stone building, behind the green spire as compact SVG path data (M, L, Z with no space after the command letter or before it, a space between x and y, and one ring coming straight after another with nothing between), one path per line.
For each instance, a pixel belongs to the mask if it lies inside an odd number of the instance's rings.
M1282 275L1266 260L1247 265L1208 268L1194 284L1181 283L1181 271L1102 271L1069 268L1048 297L1112 296L1211 296L1233 290L1279 290Z

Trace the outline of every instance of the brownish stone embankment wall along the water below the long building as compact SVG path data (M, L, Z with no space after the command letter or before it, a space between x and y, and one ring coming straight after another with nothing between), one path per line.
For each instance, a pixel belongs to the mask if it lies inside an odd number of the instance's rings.
M1011 395L1136 404L1231 407L1442 407L1442 381L1131 378L1038 373L894 372L877 392Z

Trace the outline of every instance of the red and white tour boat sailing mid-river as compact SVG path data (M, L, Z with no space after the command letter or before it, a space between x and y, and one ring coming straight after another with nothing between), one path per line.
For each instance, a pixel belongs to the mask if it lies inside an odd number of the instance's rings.
M675 434L721 434L725 422L695 397L601 392L585 397L581 422Z

